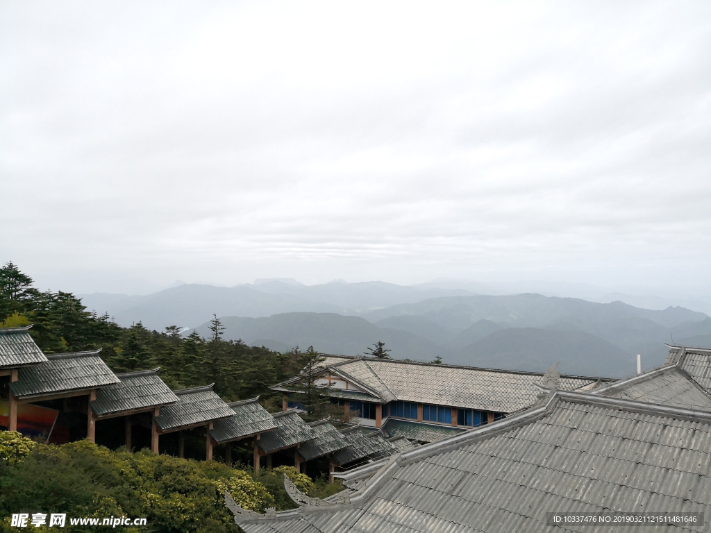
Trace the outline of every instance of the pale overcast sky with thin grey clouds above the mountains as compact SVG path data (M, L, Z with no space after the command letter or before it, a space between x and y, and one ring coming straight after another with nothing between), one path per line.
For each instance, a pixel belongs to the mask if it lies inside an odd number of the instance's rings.
M5 0L0 181L53 289L710 286L711 3Z

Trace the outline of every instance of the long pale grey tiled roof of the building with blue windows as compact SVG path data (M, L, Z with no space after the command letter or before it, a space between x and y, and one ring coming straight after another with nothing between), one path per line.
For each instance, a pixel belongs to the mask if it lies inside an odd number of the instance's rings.
M346 379L352 379L355 384L368 387L382 402L397 399L498 413L512 413L534 404L540 392L536 385L541 384L543 377L541 372L434 365L373 357L329 355L321 365ZM579 389L594 384L598 379L563 375L559 388ZM603 382L611 381L604 379ZM288 384L285 382L274 388L282 390ZM333 389L326 390L330 394Z

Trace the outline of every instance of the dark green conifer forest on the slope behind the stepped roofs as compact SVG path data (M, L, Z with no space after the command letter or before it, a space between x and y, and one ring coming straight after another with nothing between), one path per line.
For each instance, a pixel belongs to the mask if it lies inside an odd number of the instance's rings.
M11 262L0 267L0 327L33 324L31 334L45 353L102 348L115 372L161 367L173 389L215 383L226 401L274 396L269 385L294 375L303 364L298 350L281 354L225 341L213 317L213 335L181 335L178 325L149 331L139 322L122 328L105 315L90 313L80 298L65 292L41 292L30 276ZM274 405L280 402L274 402Z

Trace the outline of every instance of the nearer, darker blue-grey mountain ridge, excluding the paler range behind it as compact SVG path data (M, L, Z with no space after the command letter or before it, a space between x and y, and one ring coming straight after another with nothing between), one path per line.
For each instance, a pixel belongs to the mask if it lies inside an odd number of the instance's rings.
M633 373L637 353L645 367L661 365L672 335L711 335L711 318L688 309L650 311L538 294L432 298L364 317L285 313L221 320L225 338L280 350L313 345L325 353L358 355L381 340L396 359L429 361L439 355L451 364L536 372L560 360L563 372L601 377ZM196 330L207 336L208 325Z

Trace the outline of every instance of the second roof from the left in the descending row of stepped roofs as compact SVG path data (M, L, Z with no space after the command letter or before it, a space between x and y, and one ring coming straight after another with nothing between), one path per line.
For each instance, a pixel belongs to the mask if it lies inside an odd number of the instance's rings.
M41 365L23 367L18 380L10 384L16 397L33 397L81 389L93 389L119 382L99 357L99 352L50 355Z

